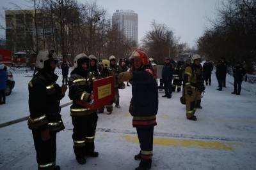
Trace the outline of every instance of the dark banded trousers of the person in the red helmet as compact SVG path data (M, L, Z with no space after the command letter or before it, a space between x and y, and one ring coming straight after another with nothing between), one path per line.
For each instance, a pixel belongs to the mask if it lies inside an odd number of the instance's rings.
M151 167L153 155L153 127L136 127L140 141L140 167Z

